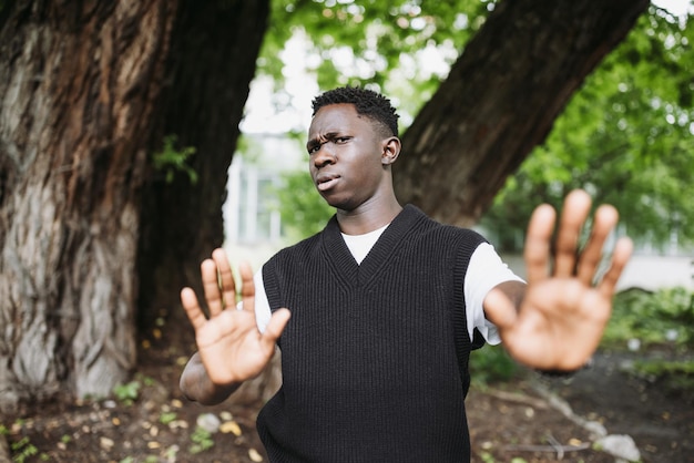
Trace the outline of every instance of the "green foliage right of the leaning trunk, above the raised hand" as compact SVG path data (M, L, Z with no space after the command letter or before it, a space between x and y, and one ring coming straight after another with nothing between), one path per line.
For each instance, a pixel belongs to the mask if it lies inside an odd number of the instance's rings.
M652 7L509 178L482 224L518 248L532 208L573 188L618 207L629 235L694 243L694 23Z

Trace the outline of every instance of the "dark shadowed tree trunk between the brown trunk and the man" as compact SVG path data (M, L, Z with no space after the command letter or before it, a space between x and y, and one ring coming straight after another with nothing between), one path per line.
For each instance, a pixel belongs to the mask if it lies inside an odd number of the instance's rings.
M196 148L190 165L197 182L178 173L167 183L154 173L145 185L137 263L144 336L156 318L169 320L167 337L192 333L178 290L192 286L201 294L200 263L224 241L226 172L268 13L269 0L181 6L157 130Z

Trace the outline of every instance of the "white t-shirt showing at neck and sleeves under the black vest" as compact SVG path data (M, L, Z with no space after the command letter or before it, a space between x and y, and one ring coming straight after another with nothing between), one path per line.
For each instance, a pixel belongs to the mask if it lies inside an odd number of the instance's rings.
M371 247L376 244L380 235L388 228L386 225L374 232L364 235L345 235L343 238L354 256L357 264L366 258ZM503 281L523 281L501 260L493 246L482 243L474 249L470 257L468 271L463 282L463 291L467 303L468 333L472 339L472 331L477 328L490 344L501 342L497 327L484 318L482 302L487 294L497 285ZM255 282L255 317L261 331L265 330L271 319L272 312L265 285L263 284L263 271L258 270L254 277Z

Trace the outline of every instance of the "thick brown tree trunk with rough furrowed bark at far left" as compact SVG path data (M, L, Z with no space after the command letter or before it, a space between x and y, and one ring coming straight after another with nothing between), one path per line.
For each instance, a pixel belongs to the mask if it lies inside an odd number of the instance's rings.
M0 32L0 402L110 392L172 3L18 1Z

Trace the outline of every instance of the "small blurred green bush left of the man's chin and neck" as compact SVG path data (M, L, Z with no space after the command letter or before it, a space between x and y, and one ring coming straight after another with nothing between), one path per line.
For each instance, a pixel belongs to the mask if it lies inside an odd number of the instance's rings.
M335 209L320 197L310 175L305 171L283 174L282 187L276 193L285 235L292 241L320 232L335 214Z

